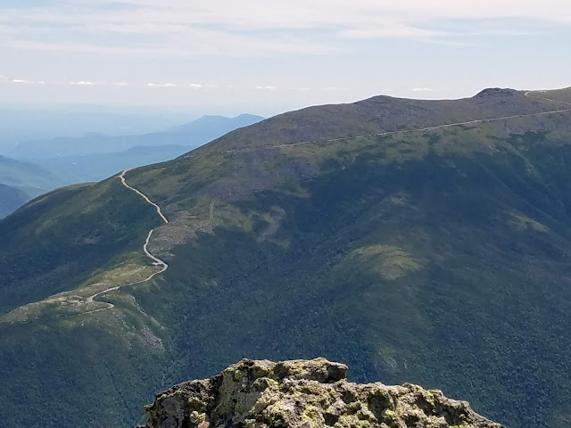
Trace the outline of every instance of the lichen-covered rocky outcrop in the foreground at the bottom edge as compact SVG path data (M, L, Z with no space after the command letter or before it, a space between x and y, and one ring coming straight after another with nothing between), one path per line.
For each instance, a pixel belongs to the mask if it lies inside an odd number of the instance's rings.
M466 401L417 385L358 384L324 358L244 359L211 379L181 383L145 407L146 428L502 428ZM141 427L142 428L142 427Z

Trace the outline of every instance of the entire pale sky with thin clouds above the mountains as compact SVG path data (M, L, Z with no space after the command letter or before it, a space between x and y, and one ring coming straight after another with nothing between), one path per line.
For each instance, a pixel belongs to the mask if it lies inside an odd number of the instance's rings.
M569 0L0 0L0 103L265 116L571 86Z

